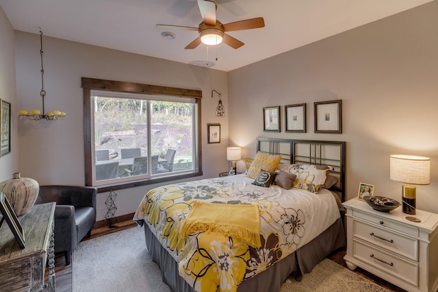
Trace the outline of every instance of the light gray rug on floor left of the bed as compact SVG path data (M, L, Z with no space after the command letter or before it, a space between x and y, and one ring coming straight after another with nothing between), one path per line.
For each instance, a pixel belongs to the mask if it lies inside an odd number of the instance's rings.
M146 250L143 228L82 241L72 261L73 292L170 292Z

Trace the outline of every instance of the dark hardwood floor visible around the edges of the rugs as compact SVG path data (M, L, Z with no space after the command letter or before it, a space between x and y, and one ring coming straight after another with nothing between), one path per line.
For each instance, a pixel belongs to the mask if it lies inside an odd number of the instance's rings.
M112 232L118 232L120 230L125 230L127 228L133 228L136 227L136 223L134 223L132 220L122 221L120 223L115 223L114 226L117 226L116 228L108 228L108 226L103 226L100 228L93 229L91 232L90 239L95 239L96 237L103 236L106 234L110 234ZM90 239L83 239L83 241L87 241ZM337 250L330 256L328 256L329 259L333 260L335 263L338 263L339 265L342 265L343 267L347 268L347 265L344 260L345 256L345 249ZM73 263L75 262L75 254L72 256L72 264L66 266L65 265L65 259L63 254L59 254L55 256L55 274L56 274L56 291L57 292L71 292L73 291ZM390 291L395 292L406 292L403 289L400 289L399 287L396 287L394 284L391 284L381 278L378 278L377 276L374 276L372 273L369 273L368 271L365 271L361 268L357 268L355 270L355 273L368 278L368 280L371 280L372 282L375 282ZM47 273L46 273L47 274ZM47 279L46 279L47 280Z

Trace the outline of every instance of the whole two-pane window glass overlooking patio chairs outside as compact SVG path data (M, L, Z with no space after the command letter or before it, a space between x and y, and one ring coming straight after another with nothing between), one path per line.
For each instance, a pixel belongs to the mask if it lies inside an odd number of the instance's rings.
M139 97L92 93L96 184L194 171L196 104Z

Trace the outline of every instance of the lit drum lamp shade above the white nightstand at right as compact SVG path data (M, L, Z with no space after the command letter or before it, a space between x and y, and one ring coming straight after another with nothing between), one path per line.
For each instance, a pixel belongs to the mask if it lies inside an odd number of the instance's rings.
M430 184L430 158L411 155L391 155L389 178L406 184Z

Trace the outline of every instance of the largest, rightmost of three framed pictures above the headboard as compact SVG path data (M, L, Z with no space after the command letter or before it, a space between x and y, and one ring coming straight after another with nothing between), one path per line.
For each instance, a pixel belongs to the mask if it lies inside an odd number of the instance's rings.
M315 133L342 133L342 99L314 103Z

